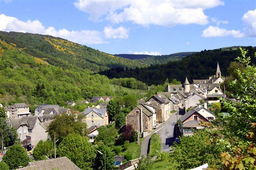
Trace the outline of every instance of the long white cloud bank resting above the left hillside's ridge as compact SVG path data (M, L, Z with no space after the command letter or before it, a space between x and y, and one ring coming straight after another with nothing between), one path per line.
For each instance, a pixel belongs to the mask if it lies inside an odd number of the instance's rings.
M26 22L20 21L17 18L0 15L0 30L1 31L16 31L24 33L39 33L52 35L68 39L80 44L102 44L108 43L104 41L104 34L100 31L94 30L81 30L81 31L68 31L67 29L56 30L54 27L47 29L38 20L28 20Z

